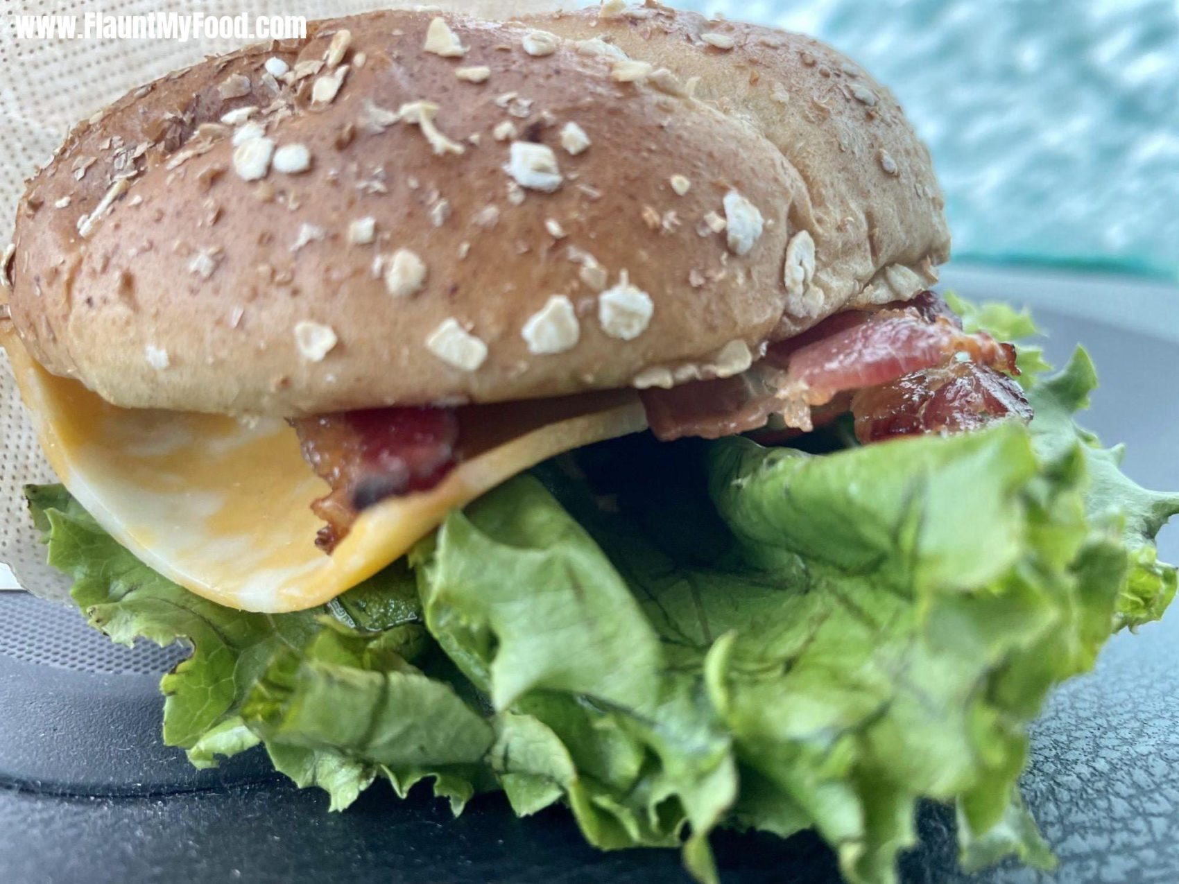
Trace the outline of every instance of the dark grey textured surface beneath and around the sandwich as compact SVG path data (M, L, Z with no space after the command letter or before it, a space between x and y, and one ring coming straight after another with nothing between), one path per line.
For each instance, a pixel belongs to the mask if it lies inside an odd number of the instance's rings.
M1023 286L1028 301L1054 305L1039 311L1050 356L1062 361L1084 341L1101 371L1089 425L1128 443L1132 476L1179 487L1179 314L1165 315L1175 292L988 275L960 275L956 285L1014 301ZM1179 559L1179 532L1161 552ZM489 797L454 820L444 804L420 792L399 801L381 784L329 814L323 793L274 778L258 753L191 771L157 737L160 699L145 669L169 659L111 648L78 626L65 609L0 594L0 882L687 880L672 851L593 851L561 810L518 820ZM950 819L926 806L903 879L1179 879L1177 638L1179 614L1115 636L1096 671L1058 691L1035 725L1023 789L1060 857L1055 873L1008 864L959 875ZM714 846L725 882L838 880L809 834L723 832Z

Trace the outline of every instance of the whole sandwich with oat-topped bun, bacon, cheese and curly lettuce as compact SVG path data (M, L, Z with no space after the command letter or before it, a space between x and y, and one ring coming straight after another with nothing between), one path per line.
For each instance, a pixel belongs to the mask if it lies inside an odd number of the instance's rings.
M648 2L314 22L150 83L28 183L0 337L164 739L343 809L506 793L717 876L889 882L914 809L1050 863L1047 692L1158 619L1140 488L1026 312L935 293L930 158L805 37Z

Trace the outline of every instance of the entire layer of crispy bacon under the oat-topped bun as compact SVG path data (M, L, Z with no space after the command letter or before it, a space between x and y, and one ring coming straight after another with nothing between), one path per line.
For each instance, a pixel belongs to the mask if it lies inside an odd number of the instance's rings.
M1009 377L1016 374L1015 348L966 334L938 296L922 292L909 302L831 316L772 345L735 377L643 390L641 398L652 431L665 441L757 430L771 416L777 420L762 438L784 441L850 410L856 436L867 443L1029 420L1032 409ZM327 522L317 543L330 552L364 508L430 489L465 459L624 394L295 421L304 457L331 487L312 504Z

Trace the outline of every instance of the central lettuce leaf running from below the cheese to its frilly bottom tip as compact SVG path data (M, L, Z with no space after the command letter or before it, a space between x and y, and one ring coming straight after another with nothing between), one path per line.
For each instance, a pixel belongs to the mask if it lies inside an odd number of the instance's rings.
M432 633L509 713L495 768L513 805L565 798L604 847L676 845L690 825L685 858L714 877L706 834L737 790L727 734L700 685L665 671L586 530L521 476L452 514L413 561Z

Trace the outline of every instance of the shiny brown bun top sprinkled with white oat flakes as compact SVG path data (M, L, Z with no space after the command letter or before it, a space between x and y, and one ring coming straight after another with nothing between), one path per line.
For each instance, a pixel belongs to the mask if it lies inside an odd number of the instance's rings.
M123 405L294 416L739 371L934 278L893 97L648 6L378 12L144 86L29 185L12 315Z

